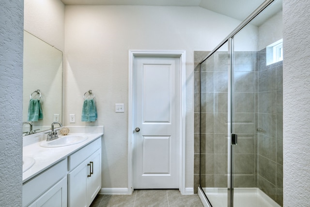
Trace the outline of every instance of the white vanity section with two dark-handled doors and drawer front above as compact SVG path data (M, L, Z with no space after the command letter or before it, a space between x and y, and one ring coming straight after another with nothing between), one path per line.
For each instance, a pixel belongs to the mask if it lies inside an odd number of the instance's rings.
M68 206L89 207L101 189L101 138L68 157Z

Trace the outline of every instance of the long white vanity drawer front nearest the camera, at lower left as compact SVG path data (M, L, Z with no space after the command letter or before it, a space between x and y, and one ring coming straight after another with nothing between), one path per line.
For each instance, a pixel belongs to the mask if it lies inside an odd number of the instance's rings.
M67 175L67 159L63 159L40 175L23 184L23 207Z

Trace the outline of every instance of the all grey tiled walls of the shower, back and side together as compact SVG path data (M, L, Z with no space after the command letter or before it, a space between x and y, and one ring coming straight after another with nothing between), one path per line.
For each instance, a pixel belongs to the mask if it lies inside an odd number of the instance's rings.
M201 89L198 63L207 54L208 52L195 52L195 191L200 183L200 171L203 188L227 187L227 88L219 88L218 84L227 85L227 72L223 73L223 70L227 71L229 56L218 52L211 56L207 65L202 64ZM238 145L235 146L235 187L259 187L280 205L281 65L282 62L266 66L265 49L260 52L235 52L236 103L233 110L234 129L238 134ZM200 110L204 123L201 128Z

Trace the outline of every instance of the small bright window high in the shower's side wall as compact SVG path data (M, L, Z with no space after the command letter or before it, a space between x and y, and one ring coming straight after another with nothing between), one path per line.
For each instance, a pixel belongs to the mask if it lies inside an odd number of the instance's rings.
M274 64L283 60L283 39L266 47L266 64Z

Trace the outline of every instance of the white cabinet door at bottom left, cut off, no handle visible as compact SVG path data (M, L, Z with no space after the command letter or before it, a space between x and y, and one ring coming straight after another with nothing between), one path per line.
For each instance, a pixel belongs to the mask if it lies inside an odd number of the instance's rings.
M66 207L67 177L62 178L29 207Z

